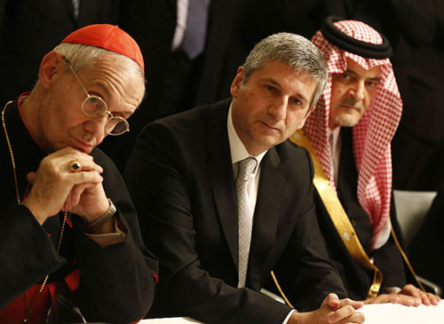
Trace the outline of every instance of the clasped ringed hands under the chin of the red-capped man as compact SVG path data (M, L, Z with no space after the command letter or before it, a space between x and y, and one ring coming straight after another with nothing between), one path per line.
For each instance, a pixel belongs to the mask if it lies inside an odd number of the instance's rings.
M72 168L73 162L75 170ZM108 207L107 195L102 186L103 169L92 156L67 146L47 155L36 172L29 172L33 185L22 202L36 217L40 225L48 217L67 210L91 223L103 215Z

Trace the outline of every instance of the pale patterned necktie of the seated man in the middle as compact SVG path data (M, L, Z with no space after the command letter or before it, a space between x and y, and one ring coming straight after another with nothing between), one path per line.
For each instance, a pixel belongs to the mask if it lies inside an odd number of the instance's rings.
M248 179L258 162L248 157L238 163L236 178L237 213L239 225L239 284L245 287L250 254L251 230L253 227L253 211L247 192Z

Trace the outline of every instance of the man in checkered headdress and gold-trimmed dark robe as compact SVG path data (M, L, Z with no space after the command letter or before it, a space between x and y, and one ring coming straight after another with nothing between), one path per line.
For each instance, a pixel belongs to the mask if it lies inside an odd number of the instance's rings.
M390 43L361 21L333 17L312 42L328 61L329 79L292 140L312 154L318 220L349 296L367 303L437 304L438 296L406 285L403 252L392 231L390 142L402 101Z

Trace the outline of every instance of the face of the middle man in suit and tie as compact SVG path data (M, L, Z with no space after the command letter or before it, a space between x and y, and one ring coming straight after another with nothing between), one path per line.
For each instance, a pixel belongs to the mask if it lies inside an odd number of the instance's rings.
M252 155L281 144L304 126L316 82L308 73L272 60L243 83L243 68L231 86L234 129Z

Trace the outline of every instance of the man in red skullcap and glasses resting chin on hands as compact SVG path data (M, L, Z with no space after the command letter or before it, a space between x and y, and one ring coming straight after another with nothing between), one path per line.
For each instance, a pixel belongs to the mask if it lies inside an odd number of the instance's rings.
M138 44L91 25L44 56L32 91L4 104L0 322L128 323L148 312L157 261L123 179L95 148L129 130L144 93Z

